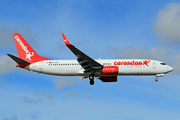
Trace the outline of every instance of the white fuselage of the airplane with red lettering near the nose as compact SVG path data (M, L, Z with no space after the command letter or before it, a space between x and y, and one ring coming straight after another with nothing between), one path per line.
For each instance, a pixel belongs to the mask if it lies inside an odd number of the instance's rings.
M171 72L172 67L161 61L143 59L99 59L95 60L103 66L118 66L116 75L156 75L163 76ZM26 69L34 72L58 76L85 76L84 68L77 60L45 60L30 64ZM96 77L109 76L101 71L95 73Z

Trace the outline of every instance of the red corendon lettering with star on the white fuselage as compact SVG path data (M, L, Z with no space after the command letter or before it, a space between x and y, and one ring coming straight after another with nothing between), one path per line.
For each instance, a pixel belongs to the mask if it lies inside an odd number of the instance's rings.
M115 61L114 65L119 65L119 66L142 66L146 65L149 66L148 63L150 63L150 60L145 60L145 61Z

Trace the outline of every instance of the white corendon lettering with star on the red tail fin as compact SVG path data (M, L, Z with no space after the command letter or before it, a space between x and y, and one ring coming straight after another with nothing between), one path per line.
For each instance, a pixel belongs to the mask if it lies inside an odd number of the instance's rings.
M31 60L31 57L34 56L34 52L30 53L29 50L27 49L27 46L25 46L23 44L23 42L20 40L20 38L18 36L15 36L14 38L16 39L16 41L19 43L19 45L22 47L22 49L26 53L26 58L25 59Z

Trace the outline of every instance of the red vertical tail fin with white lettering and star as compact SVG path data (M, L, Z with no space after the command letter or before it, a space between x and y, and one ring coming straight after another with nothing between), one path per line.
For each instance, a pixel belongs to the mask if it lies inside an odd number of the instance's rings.
M42 60L51 60L39 56L19 33L13 33L19 58L33 63Z

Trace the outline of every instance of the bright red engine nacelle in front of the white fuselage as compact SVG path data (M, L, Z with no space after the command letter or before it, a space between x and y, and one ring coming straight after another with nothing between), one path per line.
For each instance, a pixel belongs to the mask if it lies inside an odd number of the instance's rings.
M104 66L102 74L118 74L118 66Z

